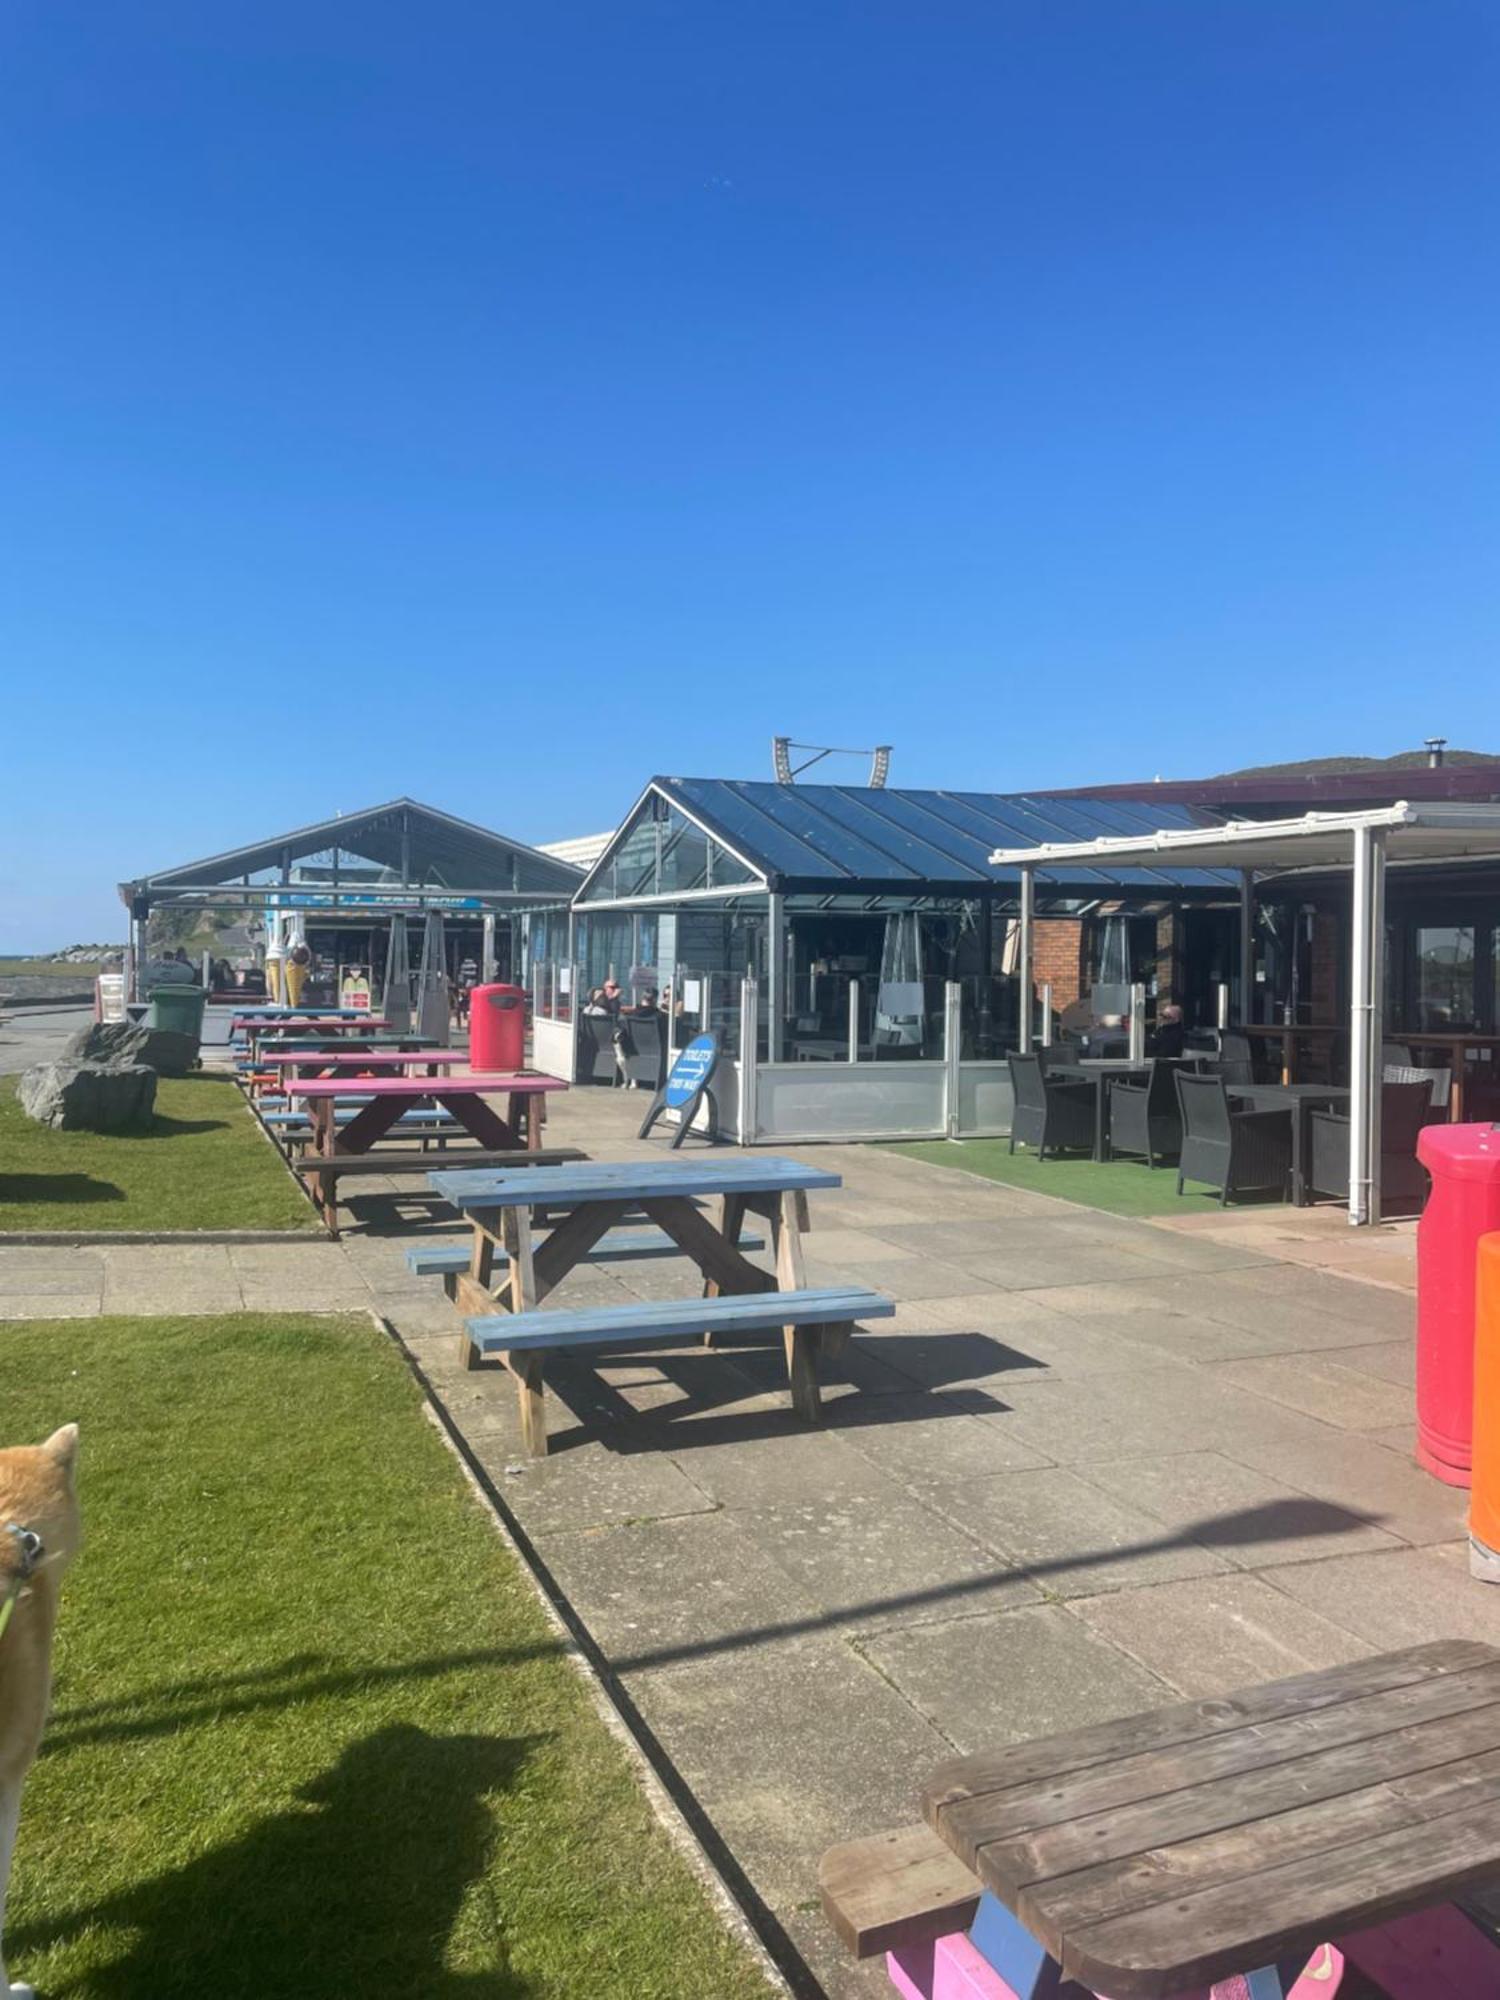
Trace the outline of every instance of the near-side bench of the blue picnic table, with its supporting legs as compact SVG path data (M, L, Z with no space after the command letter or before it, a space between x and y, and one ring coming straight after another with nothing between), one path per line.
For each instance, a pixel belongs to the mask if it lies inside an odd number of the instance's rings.
M634 1306L582 1306L564 1312L494 1312L464 1320L468 1368L496 1356L516 1376L526 1448L546 1458L542 1356L578 1348L640 1348L714 1334L780 1332L792 1408L806 1424L822 1416L818 1354L842 1352L856 1320L882 1320L896 1304L856 1286L820 1290L732 1292L720 1298L670 1298Z

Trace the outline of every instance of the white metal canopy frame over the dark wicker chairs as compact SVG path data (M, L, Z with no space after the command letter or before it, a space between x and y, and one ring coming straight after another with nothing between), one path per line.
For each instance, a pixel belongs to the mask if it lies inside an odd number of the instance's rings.
M1380 1220L1380 1044L1386 958L1386 868L1442 866L1500 856L1500 806L1398 802L1368 812L1306 812L1296 820L1236 820L1224 826L1158 828L1146 838L1056 842L1044 848L996 848L994 866L1022 870L1022 994L1030 990L1030 926L1024 920L1038 868L1076 862L1144 864L1176 858L1236 868L1242 882L1240 936L1250 934L1250 898L1260 874L1350 870L1350 1166L1348 1218ZM1240 988L1248 994L1248 964ZM1022 1004L1022 1018L1028 1008Z

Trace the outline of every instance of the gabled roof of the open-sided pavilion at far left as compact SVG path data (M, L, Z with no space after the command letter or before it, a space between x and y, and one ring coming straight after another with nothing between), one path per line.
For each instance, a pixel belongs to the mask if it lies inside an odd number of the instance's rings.
M396 880L406 854L406 878L432 888L520 892L532 896L570 896L582 878L580 870L554 854L538 854L520 840L506 840L472 820L456 820L450 812L424 806L416 798L392 798L384 806L344 812L334 820L298 826L290 834L274 834L226 854L182 862L122 882L122 896L166 892L174 888L234 884L266 868L306 860L330 848L352 854L376 868L386 868Z

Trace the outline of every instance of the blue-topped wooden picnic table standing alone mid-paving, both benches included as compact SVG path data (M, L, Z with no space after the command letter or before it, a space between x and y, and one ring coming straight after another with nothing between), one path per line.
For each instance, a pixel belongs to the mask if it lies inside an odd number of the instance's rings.
M530 1174L444 1170L432 1188L472 1224L468 1266L442 1266L448 1296L464 1314L464 1366L498 1360L516 1378L526 1448L546 1456L542 1356L566 1348L634 1348L670 1340L712 1342L718 1334L780 1330L792 1408L820 1416L818 1356L836 1354L854 1322L882 1318L894 1304L856 1286L810 1288L802 1268L802 1232L810 1188L836 1188L840 1176L796 1160L588 1160ZM718 1198L718 1220L698 1198ZM562 1220L538 1244L532 1212ZM776 1270L746 1258L746 1214L772 1226ZM588 1306L540 1312L574 1266L610 1256L604 1242L616 1224L644 1214L666 1238L650 1254L682 1254L704 1274L704 1298Z

